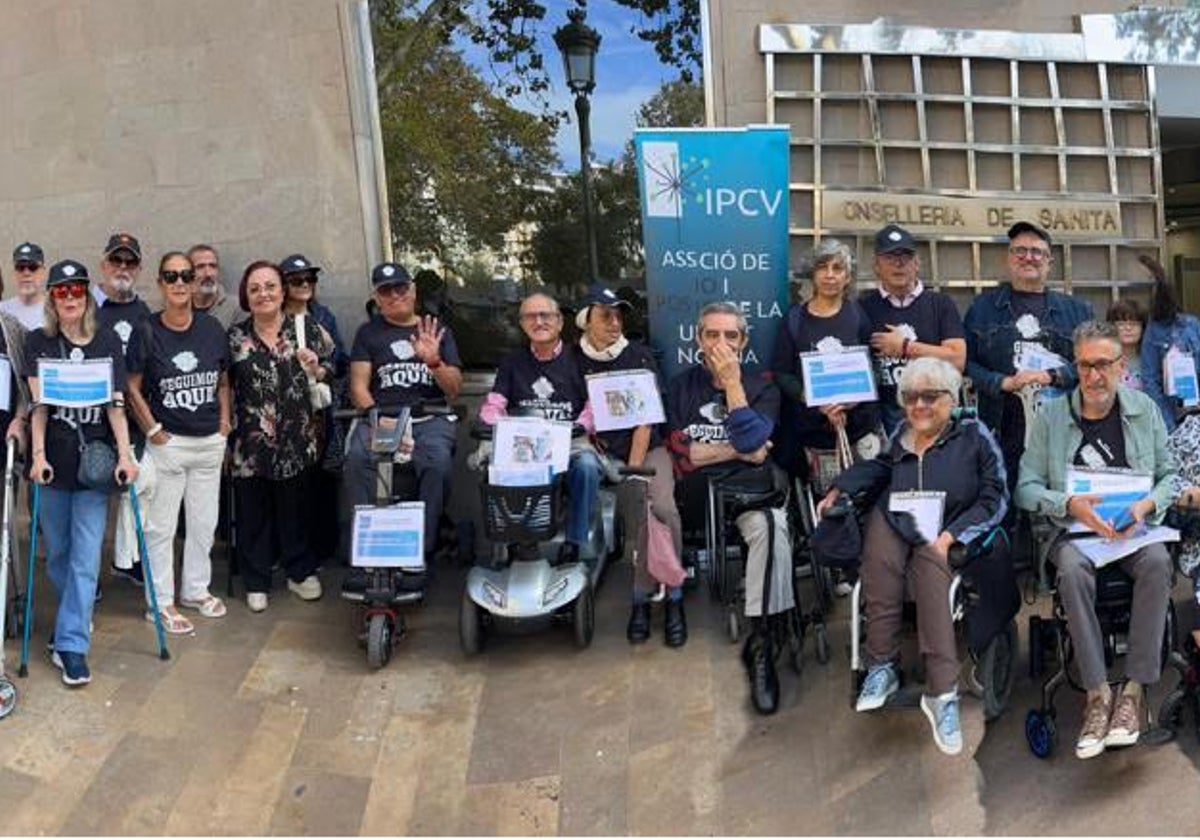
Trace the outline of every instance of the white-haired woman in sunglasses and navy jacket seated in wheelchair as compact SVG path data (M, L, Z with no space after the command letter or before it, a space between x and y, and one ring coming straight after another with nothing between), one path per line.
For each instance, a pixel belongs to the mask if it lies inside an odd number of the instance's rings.
M961 384L958 370L938 359L905 367L898 390L905 419L888 451L838 476L820 505L823 514L842 492L877 494L860 569L869 670L857 709L880 708L900 686L896 659L907 578L925 665L920 708L934 742L948 755L962 749L959 658L947 608L953 577L948 552L954 544L986 536L1008 508L996 440L982 422L955 416Z

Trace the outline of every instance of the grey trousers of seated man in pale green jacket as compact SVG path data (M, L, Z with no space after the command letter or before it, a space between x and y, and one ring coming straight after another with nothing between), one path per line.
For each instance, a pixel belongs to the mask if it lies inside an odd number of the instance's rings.
M1140 548L1116 562L1133 578L1133 611L1129 618L1129 655L1126 677L1150 685L1162 673L1163 628L1171 596L1171 556L1166 546ZM1108 682L1104 640L1096 616L1096 568L1069 541L1054 553L1058 569L1058 596L1067 610L1067 630L1084 688L1088 691Z

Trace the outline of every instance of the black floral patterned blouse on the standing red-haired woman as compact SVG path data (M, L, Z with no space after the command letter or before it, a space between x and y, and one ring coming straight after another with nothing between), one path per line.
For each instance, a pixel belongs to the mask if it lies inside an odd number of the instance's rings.
M275 347L254 331L253 318L229 328L233 386L233 475L282 481L317 462L320 414L308 401L308 378L295 356L295 318L284 316ZM305 319L305 343L334 377L334 341L313 318Z

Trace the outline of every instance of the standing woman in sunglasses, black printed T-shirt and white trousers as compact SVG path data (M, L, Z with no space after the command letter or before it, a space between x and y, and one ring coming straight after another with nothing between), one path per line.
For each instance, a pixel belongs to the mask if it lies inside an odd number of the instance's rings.
M204 618L226 605L209 592L212 540L221 498L221 464L233 430L229 408L229 340L221 323L192 308L196 272L186 254L158 260L162 311L130 336L130 407L146 436L157 486L146 512L146 548L167 632L192 623L175 608L175 532L187 514L179 604ZM148 618L154 618L148 613Z

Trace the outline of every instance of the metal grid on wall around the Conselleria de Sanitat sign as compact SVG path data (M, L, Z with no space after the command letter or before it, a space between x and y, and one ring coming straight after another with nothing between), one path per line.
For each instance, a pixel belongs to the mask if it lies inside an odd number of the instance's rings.
M767 121L792 132L794 269L829 235L854 241L870 265L869 235L820 224L832 188L1103 200L1118 204L1121 235L1056 240L1051 283L1099 311L1122 290L1145 294L1136 257L1162 259L1164 232L1153 67L794 47L764 60ZM1004 236L918 239L926 282L956 298L1006 276Z

